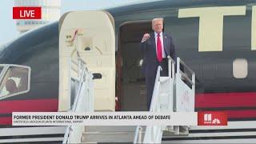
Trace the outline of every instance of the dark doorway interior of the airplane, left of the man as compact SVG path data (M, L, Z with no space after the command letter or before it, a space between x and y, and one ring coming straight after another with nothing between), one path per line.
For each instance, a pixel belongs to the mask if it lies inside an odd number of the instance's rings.
M153 32L151 21L125 22L119 29L117 55L117 96L122 111L146 108L146 82L141 73L143 34Z

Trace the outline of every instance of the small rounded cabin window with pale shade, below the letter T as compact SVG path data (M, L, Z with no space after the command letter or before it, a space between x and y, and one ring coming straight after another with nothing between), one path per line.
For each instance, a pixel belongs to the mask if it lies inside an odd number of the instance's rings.
M234 78L246 78L248 74L248 62L245 58L236 58L233 62Z

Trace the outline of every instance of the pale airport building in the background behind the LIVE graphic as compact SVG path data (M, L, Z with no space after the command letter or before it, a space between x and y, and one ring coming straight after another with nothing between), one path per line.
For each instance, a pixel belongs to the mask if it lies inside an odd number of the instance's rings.
M61 15L61 0L14 0L15 6L41 6L42 19L17 19L20 33L32 30L49 22L57 21Z

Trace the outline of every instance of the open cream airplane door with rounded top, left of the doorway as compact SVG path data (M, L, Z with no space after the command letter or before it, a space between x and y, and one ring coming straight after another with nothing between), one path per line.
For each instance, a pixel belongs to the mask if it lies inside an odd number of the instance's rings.
M59 21L59 100L58 110L70 110L72 82L68 58L78 54L93 74L94 110L115 110L114 18L106 11L73 11ZM68 85L67 83L71 83Z

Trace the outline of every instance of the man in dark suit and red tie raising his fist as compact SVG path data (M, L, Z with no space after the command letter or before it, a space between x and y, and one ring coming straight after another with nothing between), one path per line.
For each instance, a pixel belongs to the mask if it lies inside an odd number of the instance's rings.
M144 34L141 43L141 50L144 54L142 73L146 76L147 107L150 110L151 98L154 90L154 82L158 66L162 66L161 76L168 76L168 59L176 60L174 43L170 35L162 32L163 18L152 20L154 33Z

